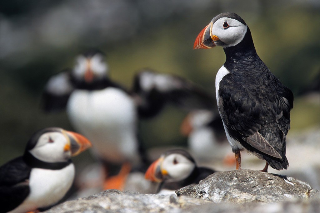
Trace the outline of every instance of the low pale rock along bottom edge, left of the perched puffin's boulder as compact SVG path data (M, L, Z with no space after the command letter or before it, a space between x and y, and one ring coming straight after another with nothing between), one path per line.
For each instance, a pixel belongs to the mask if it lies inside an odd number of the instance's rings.
M64 202L46 212L177 212L211 203L188 196L139 194L107 190L76 201Z

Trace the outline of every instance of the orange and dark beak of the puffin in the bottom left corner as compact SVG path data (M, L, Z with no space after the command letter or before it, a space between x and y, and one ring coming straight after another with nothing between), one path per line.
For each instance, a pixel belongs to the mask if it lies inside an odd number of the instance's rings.
M65 131L64 133L70 141L70 144L67 144L64 150L71 150L71 156L76 156L92 146L91 142L81 134L70 131Z

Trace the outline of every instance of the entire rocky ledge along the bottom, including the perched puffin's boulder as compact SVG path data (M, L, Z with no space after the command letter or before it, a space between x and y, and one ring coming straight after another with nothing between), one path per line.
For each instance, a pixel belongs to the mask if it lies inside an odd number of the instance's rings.
M107 190L46 212L320 212L320 191L290 176L260 171L216 172L176 193Z

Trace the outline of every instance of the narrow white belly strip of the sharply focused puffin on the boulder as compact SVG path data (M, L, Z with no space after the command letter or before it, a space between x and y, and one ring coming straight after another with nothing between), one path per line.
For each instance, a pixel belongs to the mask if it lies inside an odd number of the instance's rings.
M222 80L222 78L224 76L226 76L227 74L229 74L230 72L227 70L227 68L225 68L224 66L222 66L217 75L216 75L216 82L215 82L215 85L216 85L216 98L217 98L217 105L218 105L218 109L219 109L219 83L220 81ZM219 109L219 113L220 113L220 116L221 116L221 112L220 112L220 109ZM244 147L240 144L239 141L233 139L230 137L229 133L228 133L228 130L226 128L226 125L224 123L224 121L222 120L222 123L223 123L223 127L224 127L224 130L226 132L226 136L227 136L227 139L229 141L229 144L231 145L232 149L233 150L236 150L236 149L244 149Z

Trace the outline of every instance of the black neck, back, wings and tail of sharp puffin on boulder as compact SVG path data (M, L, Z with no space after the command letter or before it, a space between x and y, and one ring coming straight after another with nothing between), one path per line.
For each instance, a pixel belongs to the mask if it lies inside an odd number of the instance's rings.
M218 108L230 136L272 168L287 169L285 135L293 107L291 90L257 55L249 28L242 42L224 50L224 66L230 74L219 84Z

